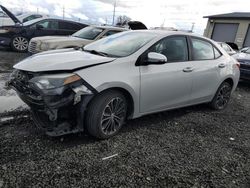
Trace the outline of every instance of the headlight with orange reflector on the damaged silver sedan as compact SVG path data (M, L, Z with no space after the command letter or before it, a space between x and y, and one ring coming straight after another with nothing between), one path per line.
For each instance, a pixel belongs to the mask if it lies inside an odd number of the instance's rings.
M47 90L59 88L80 80L81 77L76 74L55 74L34 77L29 82L36 85L39 89Z

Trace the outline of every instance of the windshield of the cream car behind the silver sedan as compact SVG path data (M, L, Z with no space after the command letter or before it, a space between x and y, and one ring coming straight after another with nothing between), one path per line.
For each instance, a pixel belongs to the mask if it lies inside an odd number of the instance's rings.
M72 36L79 37L88 40L94 40L98 35L103 32L104 29L97 28L97 27L85 27L80 31L77 31Z

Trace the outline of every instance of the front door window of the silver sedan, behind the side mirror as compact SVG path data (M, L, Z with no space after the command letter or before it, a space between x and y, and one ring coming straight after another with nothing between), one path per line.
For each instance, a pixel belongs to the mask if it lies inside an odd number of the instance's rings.
M168 62L188 60L187 40L184 36L165 38L152 46L149 51L165 55Z

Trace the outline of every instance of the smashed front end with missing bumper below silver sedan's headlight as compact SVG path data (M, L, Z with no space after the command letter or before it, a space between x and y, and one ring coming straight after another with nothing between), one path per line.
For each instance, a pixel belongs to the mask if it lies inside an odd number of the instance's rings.
M84 131L84 114L89 101L97 93L84 80L55 89L42 90L24 78L12 78L8 87L31 108L33 120L49 136L61 136Z

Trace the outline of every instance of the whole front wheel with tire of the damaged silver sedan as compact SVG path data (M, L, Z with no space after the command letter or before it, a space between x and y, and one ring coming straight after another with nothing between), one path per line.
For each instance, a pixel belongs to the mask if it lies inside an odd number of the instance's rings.
M90 103L86 113L86 128L90 135L107 139L116 135L125 122L127 101L115 90L98 95Z

